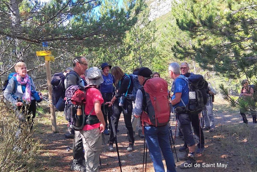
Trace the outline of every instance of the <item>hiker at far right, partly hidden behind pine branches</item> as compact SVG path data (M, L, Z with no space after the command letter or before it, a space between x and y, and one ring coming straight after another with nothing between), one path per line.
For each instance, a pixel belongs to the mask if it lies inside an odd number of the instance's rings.
M241 92L240 92L240 97L243 97L243 99L247 99L247 97L251 97L253 99L254 90L251 87L251 85L249 84L249 81L247 79L244 79L242 81L242 85L243 85L243 87L242 87ZM253 123L257 123L255 107L250 107L250 111L251 111L251 114L252 114ZM243 117L243 121L244 121L244 123L247 124L248 121L247 121L245 112L246 112L246 109L242 109L242 108L240 109L240 114Z

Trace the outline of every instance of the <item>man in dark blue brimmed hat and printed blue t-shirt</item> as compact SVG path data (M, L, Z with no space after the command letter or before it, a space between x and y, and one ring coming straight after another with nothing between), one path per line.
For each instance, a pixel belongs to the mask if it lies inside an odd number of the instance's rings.
M103 70L104 82L100 85L100 91L102 93L104 101L108 102L111 101L111 99L113 98L113 83L115 82L115 80L113 75L109 73L110 69L112 68L111 65L108 65L108 63L103 63L101 65L101 68ZM105 130L103 133L105 135L109 135L111 128L112 107L105 108L104 106L102 106L102 112L105 118ZM107 124L107 117L109 121L109 130Z

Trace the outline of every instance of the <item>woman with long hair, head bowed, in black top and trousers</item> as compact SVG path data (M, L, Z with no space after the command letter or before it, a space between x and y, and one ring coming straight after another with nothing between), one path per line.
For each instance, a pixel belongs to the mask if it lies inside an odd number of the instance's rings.
M128 148L127 151L131 152L134 150L134 136L133 136L133 127L131 124L131 116L132 116L132 101L126 98L127 94L132 94L133 85L132 80L129 75L124 73L120 67L115 66L112 68L111 73L115 78L115 86L117 88L117 93L111 99L113 103L113 121L115 125L115 131L117 133L118 122L121 116L121 112L123 112L125 125L128 131ZM115 137L113 135L113 130L111 130L110 134L110 146L109 151L114 151L113 142L115 141Z

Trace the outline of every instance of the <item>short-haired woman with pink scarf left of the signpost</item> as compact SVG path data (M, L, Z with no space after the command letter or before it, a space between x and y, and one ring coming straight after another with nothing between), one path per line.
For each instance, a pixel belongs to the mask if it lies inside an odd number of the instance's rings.
M33 119L36 116L36 101L33 98L31 91L36 91L35 84L31 77L27 74L26 64L18 62L14 66L17 74L14 74L3 93L5 98L15 105L15 114L20 121L20 125L24 122L29 123L33 128ZM42 93L38 92L39 95ZM19 136L19 131L16 137Z

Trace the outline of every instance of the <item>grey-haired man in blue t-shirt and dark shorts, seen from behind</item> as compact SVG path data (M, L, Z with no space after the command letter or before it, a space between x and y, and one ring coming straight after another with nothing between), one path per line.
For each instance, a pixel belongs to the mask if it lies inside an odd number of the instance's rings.
M184 136L184 140L189 150L187 160L180 165L180 168L187 169L194 167L194 164L196 164L194 155L195 141L191 129L191 117L186 110L189 101L189 88L186 77L180 75L180 66L178 63L170 63L168 72L170 77L174 79L172 83L172 90L174 90L174 93L170 103L175 109L178 127Z

